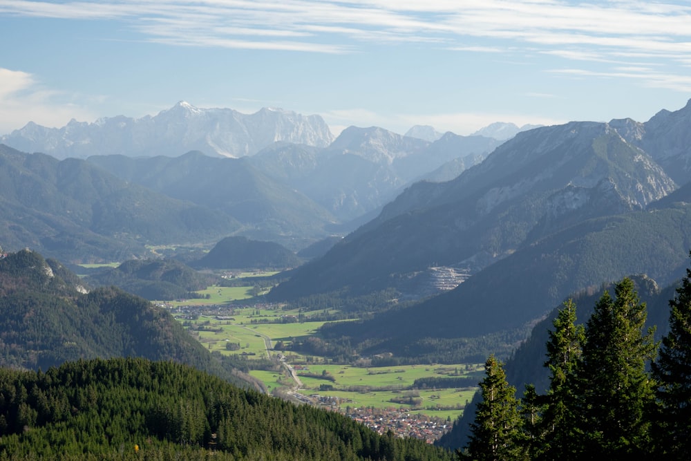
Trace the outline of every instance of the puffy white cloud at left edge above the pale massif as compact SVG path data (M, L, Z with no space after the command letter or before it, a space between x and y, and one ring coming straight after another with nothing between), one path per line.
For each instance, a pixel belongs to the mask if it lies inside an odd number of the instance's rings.
M73 117L93 120L93 113L42 87L29 73L0 68L0 134L21 128L26 120L44 126L64 126Z

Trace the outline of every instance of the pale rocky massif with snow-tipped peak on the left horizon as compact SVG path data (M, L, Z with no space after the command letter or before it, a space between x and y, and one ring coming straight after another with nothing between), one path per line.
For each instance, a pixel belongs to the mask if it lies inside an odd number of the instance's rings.
M56 158L179 156L193 150L237 158L277 141L326 147L332 140L319 115L267 108L245 115L232 109L198 109L187 102L138 119L120 115L93 123L72 120L59 129L30 122L0 138L15 149Z

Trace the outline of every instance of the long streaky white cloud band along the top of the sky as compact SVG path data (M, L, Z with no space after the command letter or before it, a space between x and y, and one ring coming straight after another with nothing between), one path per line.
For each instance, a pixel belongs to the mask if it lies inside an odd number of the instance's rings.
M542 45L581 44L688 51L691 7L688 3L603 2L567 3L535 0L419 1L214 1L120 0L110 2L1 0L0 15L63 19L120 20L160 41L177 31L211 30L223 46L233 37L304 36L307 44L338 43L344 49L357 42L385 37L389 41L442 41L462 46L467 37L518 40ZM198 37L205 34L197 33ZM345 41L345 43L344 43ZM247 41L249 48L253 42ZM233 46L236 46L234 44ZM278 49L284 49L276 42ZM290 46L288 48L294 48ZM302 49L302 47L298 47ZM491 48L491 47L490 47Z

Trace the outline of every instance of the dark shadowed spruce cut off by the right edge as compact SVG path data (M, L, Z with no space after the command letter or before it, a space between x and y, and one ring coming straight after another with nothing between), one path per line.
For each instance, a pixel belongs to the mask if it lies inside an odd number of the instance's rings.
M691 256L691 254L690 254ZM670 332L662 339L652 374L660 404L654 440L656 454L691 460L691 270L670 300Z

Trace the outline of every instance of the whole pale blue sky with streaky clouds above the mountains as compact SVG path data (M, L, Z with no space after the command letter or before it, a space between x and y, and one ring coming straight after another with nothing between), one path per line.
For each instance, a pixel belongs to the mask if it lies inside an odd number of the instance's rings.
M691 98L680 0L0 0L0 42L0 135L180 100L468 135Z

